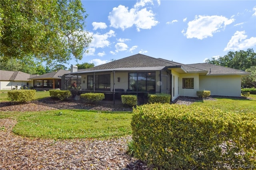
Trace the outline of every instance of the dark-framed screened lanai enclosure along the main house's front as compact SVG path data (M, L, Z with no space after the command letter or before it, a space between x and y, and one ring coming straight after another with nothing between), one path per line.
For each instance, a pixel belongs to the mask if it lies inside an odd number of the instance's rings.
M62 76L62 90L70 90L72 96L83 93L104 93L105 99L115 102L121 95L136 95L140 104L147 102L149 93L169 93L170 74L163 67L116 68L78 71Z

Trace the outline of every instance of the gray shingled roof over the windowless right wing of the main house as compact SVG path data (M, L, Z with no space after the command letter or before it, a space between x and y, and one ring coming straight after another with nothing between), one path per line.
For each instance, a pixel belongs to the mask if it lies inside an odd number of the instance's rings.
M209 63L197 63L197 64L187 64L188 66L193 66L196 68L202 68L204 70L207 70L208 73L206 75L250 75L250 73L242 70L237 70L234 68L224 67L224 66L218 66L215 64L209 64Z

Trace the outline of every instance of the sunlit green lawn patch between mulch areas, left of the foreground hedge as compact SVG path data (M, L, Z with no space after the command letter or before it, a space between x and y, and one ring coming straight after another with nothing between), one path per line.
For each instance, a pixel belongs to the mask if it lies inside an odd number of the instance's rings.
M120 137L132 133L131 113L97 113L83 110L54 110L2 113L0 118L16 119L13 132L24 137L81 139Z

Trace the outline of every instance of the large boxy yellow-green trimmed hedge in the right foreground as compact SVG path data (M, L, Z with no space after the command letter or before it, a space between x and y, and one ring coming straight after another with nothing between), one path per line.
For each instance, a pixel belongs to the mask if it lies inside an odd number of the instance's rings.
M202 106L133 109L134 156L158 169L226 169L256 163L256 116Z

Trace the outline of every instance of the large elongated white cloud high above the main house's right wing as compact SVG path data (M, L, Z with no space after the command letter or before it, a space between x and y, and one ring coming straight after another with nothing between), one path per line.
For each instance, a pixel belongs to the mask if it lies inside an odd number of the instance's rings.
M212 37L213 33L219 32L221 28L234 22L234 19L228 19L223 16L196 16L193 21L188 22L186 33L182 33L187 38L204 39Z

